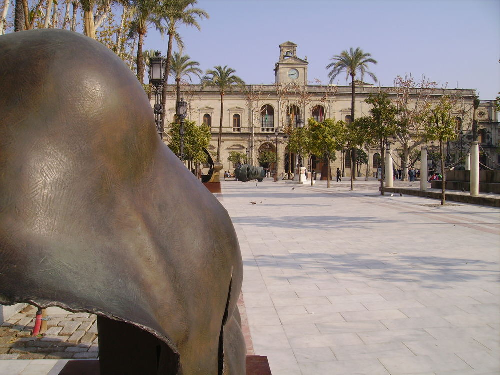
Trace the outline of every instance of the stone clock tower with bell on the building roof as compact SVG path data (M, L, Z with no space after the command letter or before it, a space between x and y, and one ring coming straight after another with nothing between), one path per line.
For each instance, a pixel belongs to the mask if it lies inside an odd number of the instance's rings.
M299 86L307 84L307 57L305 60L296 55L297 44L291 41L279 45L279 60L274 65L276 83L296 83Z

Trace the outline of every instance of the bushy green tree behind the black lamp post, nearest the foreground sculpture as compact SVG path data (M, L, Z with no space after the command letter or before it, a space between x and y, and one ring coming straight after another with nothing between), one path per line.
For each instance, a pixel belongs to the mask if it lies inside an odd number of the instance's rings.
M171 140L168 147L176 155L180 153L179 130L180 124L173 122L169 131ZM184 120L184 153L189 169L206 161L206 154L203 152L203 147L208 147L210 139L211 133L208 126L205 124L196 126L196 122L187 119Z

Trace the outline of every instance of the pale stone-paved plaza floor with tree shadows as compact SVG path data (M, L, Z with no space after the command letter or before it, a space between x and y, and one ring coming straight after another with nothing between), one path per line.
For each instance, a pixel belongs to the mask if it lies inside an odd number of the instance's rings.
M380 196L374 180L351 192L347 178L225 181L215 196L241 245L253 350L273 375L500 372L498 208ZM63 361L0 360L0 374L56 375Z

